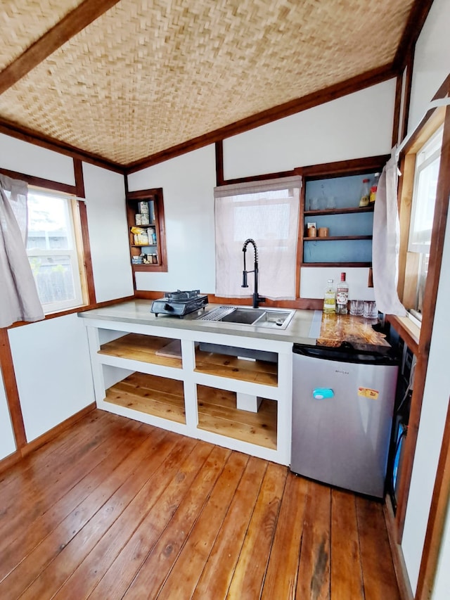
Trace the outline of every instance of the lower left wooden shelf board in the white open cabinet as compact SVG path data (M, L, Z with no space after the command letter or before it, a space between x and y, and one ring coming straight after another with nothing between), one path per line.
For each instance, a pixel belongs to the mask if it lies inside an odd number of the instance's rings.
M106 390L105 402L186 424L183 382L133 373Z

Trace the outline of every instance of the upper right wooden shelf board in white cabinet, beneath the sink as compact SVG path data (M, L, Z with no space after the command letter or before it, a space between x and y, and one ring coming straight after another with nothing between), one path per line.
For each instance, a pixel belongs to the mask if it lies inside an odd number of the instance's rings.
M257 360L239 359L215 352L195 351L195 371L208 375L252 381L262 385L278 385L278 365Z

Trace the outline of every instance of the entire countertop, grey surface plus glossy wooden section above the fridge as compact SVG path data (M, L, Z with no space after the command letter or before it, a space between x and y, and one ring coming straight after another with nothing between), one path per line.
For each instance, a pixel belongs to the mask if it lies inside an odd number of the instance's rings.
M189 329L209 333L227 333L231 336L278 340L307 345L338 346L343 341L352 343L358 350L376 350L390 347L383 333L375 331L371 322L351 315L322 314L321 311L299 310L288 328L272 329L254 325L236 325L214 321L195 321L203 311L187 314L184 319L155 316L150 312L151 300L129 300L106 307L79 312L83 319L122 321L172 329ZM209 304L205 310L217 307Z

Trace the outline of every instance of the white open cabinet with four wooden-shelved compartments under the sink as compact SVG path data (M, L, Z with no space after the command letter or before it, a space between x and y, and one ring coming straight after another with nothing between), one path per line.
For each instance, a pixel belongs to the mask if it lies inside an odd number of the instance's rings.
M291 342L97 319L85 325L98 408L289 464ZM203 342L217 351L200 350ZM230 346L277 359L230 356Z

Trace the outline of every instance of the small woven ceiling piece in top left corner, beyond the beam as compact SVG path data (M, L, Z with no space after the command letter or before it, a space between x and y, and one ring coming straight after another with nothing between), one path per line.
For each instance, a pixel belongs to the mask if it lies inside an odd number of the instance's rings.
M83 0L1 0L0 70Z

